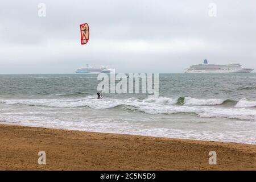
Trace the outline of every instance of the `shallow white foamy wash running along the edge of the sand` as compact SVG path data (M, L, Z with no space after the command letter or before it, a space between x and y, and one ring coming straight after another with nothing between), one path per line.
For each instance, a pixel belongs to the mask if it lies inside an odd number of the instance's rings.
M226 127L224 131L212 131L207 127L195 130L193 129L193 123L189 127L184 127L181 129L174 128L171 126L162 127L156 122L155 125L148 127L146 121L145 123L134 123L129 122L128 118L121 119L121 121L115 121L113 118L109 119L98 119L93 118L93 121L88 121L85 118L79 118L79 122L74 121L74 119L66 118L63 120L59 117L34 117L27 115L26 117L19 116L5 116L4 118L0 115L0 122L23 125L23 126L34 126L34 127L49 127L56 129L69 129L69 130L81 130L81 131L94 131L103 133L121 133L121 134L135 134L135 135L146 135L153 137L169 137L169 138L184 138L184 139L200 139L200 140L214 140L222 142L238 142L238 143L250 143L256 144L255 135L253 129L251 130L238 130L237 127L242 125L241 122L235 123L238 126L229 130ZM225 126L225 125L224 125ZM253 125L252 125L253 126ZM213 126L214 127L214 126ZM246 124L248 126L248 123Z

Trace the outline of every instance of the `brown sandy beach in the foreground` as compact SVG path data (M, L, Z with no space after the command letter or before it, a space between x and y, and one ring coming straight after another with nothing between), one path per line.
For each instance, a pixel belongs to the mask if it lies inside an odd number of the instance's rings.
M256 145L0 125L1 170L255 170ZM46 151L46 165L38 152ZM217 165L208 163L217 152Z

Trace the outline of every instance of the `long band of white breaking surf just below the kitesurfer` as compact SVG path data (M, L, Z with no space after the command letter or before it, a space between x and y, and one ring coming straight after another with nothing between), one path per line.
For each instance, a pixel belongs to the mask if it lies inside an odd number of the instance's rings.
M255 101L243 98L240 101L221 99L179 98L127 98L124 100L88 96L80 99L37 99L37 100L0 100L1 104L46 107L90 107L92 109L122 109L141 111L147 114L195 113L199 117L223 117L256 121ZM220 107L228 105L231 107Z

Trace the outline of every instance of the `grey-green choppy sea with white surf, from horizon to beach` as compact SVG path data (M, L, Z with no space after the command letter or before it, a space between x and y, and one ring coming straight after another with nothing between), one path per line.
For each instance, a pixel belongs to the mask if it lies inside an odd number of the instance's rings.
M159 74L158 98L98 99L97 76L0 75L0 122L256 144L256 73Z

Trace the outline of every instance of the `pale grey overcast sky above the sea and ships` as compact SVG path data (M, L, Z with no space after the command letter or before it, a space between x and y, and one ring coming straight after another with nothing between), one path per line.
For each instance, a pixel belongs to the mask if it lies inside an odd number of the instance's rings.
M255 0L1 0L0 74L74 73L86 64L179 73L204 59L255 69L255 7ZM90 39L82 46L85 22Z

